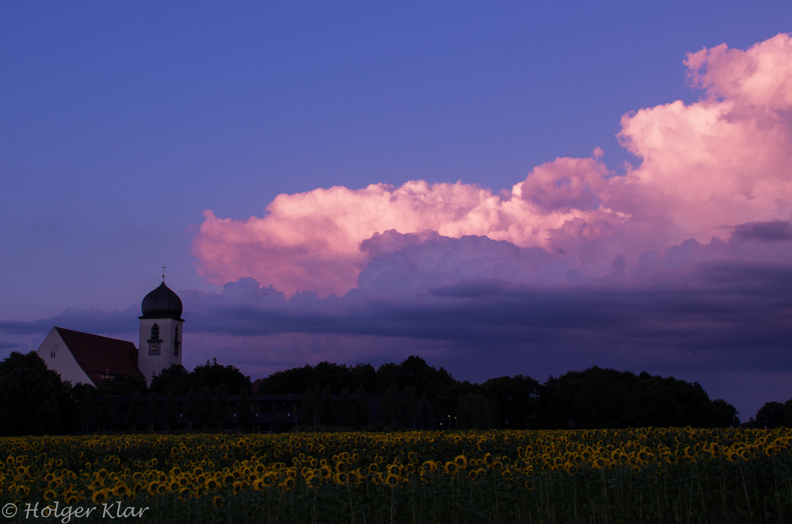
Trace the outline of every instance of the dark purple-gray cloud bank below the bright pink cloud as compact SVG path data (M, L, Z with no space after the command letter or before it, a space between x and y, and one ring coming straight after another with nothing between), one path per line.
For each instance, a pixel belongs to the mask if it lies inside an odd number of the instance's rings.
M233 338L227 358L242 361L261 360L261 351L272 349L272 343L265 350L250 342L261 337L334 336L345 341L333 349L341 361L344 344L356 360L378 361L376 344L352 347L354 341L399 338L416 348L443 347L436 363L472 380L508 373L543 378L609 365L688 380L706 376L714 391L728 392L735 373L740 380L746 373L786 377L778 384L792 379L788 228L744 224L728 241L687 240L632 263L618 254L584 263L480 236L386 231L361 246L375 257L345 296L286 298L253 278L229 282L222 293L179 294L185 333ZM121 333L136 331L138 314L137 305L112 313L69 309L50 319L3 322L0 331L59 325ZM300 355L295 358L307 358ZM761 388L754 389L741 386L740 395L756 397L746 405L760 401Z

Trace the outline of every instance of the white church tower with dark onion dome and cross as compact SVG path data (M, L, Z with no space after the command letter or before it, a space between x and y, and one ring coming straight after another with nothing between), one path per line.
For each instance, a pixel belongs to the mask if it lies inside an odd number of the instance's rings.
M171 364L181 364L181 340L184 335L181 319L181 298L162 284L146 295L140 305L140 345L138 346L138 369L151 384L151 377Z

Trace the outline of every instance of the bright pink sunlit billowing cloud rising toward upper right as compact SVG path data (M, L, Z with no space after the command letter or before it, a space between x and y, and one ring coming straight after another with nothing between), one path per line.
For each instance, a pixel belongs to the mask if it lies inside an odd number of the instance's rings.
M786 220L792 39L781 34L745 51L722 44L688 53L684 63L703 98L625 115L619 140L642 163L624 176L596 148L592 158L536 166L510 192L419 180L281 194L262 217L206 212L192 246L198 271L218 284L255 277L287 296L327 296L356 287L387 240L375 235L390 230L485 235L602 268L685 239L728 238L737 224ZM372 237L377 249L365 243Z

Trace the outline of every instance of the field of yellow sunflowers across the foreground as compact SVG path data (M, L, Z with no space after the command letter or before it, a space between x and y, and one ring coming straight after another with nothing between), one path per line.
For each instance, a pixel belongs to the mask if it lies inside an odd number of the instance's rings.
M0 505L19 508L6 522L106 522L65 509L107 506L139 508L124 522L792 522L790 441L691 428L0 438Z

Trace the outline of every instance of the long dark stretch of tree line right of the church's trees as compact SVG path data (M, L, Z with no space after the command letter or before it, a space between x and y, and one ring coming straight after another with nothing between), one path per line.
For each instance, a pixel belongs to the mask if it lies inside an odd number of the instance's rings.
M596 366L543 383L518 374L473 384L417 356L378 368L320 362L272 373L258 392L301 393L310 384L328 393L362 389L384 394L388 415L404 426L413 416L413 396L431 403L436 419L447 418L459 429L725 427L740 422L731 404L710 400L696 382Z

